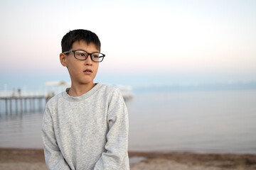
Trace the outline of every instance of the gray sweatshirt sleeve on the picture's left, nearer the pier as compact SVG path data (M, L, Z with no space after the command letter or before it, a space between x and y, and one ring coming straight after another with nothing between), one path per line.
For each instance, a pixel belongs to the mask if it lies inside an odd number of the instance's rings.
M53 129L53 120L47 106L43 115L42 138L47 169L70 170L70 167L67 162L65 162L63 154L58 147Z

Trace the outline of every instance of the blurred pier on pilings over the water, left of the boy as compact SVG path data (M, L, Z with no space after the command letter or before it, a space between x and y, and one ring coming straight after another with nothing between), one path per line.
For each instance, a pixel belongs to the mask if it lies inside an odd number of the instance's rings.
M5 96L0 97L0 113L42 111L52 96ZM4 101L4 104L2 103ZM1 108L1 107L4 107Z

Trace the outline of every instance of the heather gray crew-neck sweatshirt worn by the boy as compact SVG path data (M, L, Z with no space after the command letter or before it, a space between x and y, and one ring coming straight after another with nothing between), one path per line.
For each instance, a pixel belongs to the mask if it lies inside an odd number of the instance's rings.
M42 137L48 169L129 169L127 107L115 87L51 98Z

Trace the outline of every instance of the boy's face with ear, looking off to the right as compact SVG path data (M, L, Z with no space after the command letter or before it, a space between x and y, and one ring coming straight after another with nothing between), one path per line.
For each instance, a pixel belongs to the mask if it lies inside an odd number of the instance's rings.
M97 50L95 44L87 43L83 40L75 41L70 50L85 50L86 52L100 52ZM90 55L86 60L77 60L74 57L74 53L70 52L68 54L60 53L60 62L64 67L68 68L70 74L70 79L73 84L93 84L93 79L97 74L97 69L99 67L98 62L93 62Z

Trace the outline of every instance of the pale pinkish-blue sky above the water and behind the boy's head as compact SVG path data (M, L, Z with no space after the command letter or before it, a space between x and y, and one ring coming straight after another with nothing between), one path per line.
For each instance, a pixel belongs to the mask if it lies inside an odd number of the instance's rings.
M256 1L0 1L0 90L70 81L60 41L96 33L95 81L131 86L256 81Z

